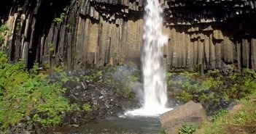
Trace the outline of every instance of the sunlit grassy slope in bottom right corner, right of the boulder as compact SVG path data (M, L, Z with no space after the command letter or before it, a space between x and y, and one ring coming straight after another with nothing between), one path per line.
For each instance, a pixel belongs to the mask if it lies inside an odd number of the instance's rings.
M241 99L242 108L237 112L218 114L205 122L195 133L256 133L256 95Z

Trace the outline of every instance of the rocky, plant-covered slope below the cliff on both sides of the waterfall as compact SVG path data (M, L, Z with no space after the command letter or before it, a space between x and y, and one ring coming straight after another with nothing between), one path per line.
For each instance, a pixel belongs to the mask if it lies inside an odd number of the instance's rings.
M106 117L118 117L141 106L141 72L117 66L63 71L23 62L9 64L0 54L1 133L47 133L57 127L80 127ZM210 70L166 72L169 107L187 101L200 102L210 116L230 102L255 93L255 72Z

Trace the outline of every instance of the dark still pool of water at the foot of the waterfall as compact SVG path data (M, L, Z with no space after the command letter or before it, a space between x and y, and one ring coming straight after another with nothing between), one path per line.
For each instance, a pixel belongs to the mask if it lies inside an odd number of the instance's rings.
M160 131L158 117L111 117L106 120L98 120L72 128L69 134L158 134Z

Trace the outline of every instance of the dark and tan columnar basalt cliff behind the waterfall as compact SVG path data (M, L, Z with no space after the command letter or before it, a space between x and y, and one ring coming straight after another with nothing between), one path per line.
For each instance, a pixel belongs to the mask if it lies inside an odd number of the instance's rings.
M255 0L161 0L168 70L256 69ZM0 1L1 50L69 69L140 63L145 0Z

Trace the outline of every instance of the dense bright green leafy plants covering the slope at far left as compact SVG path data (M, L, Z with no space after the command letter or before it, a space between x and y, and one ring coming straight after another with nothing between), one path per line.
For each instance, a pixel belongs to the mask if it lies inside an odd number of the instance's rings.
M42 125L60 123L63 112L71 109L61 84L50 83L44 75L29 75L23 61L7 61L0 51L0 126L15 125L26 116Z

